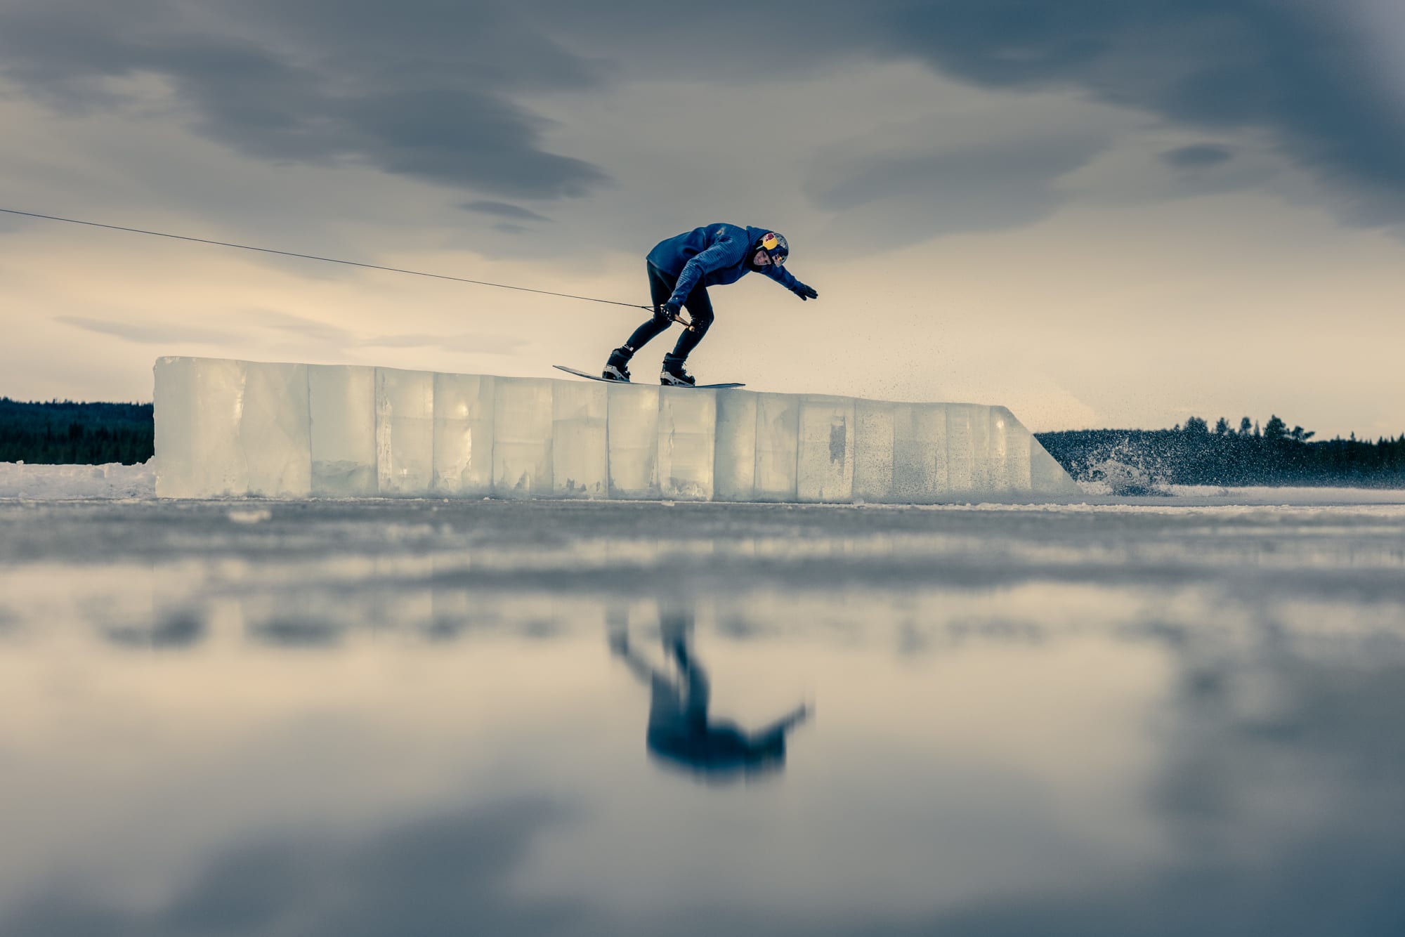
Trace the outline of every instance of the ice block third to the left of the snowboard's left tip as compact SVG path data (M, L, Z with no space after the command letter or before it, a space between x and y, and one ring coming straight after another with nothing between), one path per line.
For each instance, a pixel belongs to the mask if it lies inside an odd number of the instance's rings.
M424 496L434 483L434 375L375 369L375 468L381 494Z

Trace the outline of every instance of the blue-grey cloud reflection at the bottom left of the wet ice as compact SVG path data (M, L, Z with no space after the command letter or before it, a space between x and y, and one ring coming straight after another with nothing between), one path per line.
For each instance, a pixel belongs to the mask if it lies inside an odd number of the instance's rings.
M27 937L191 934L562 933L575 903L517 895L532 841L568 816L524 799L426 816L364 839L278 834L214 857L159 907L132 909L55 886L0 933Z

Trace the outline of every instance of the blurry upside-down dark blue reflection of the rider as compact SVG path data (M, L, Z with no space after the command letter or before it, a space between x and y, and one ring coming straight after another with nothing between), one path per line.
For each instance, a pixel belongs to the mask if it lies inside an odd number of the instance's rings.
M676 674L655 667L635 652L622 624L610 628L610 650L649 684L649 754L707 780L780 770L785 764L785 733L804 722L809 709L801 705L756 732L745 732L732 722L710 721L707 670L690 648L691 615L660 612L659 618L663 650L676 666Z

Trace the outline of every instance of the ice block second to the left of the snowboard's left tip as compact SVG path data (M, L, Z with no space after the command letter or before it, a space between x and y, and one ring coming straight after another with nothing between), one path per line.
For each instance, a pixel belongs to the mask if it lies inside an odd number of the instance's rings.
M434 375L437 494L492 494L495 381L478 374Z

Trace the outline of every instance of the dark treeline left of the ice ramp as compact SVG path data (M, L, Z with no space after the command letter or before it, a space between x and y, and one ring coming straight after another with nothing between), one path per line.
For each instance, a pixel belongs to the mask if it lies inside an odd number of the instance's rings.
M0 398L0 462L135 465L152 458L150 403L20 403Z

